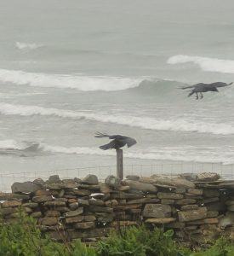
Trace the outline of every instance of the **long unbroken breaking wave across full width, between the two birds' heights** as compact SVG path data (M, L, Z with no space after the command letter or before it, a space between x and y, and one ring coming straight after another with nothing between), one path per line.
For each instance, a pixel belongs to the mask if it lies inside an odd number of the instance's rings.
M128 125L157 131L194 131L216 135L234 134L234 126L232 125L204 122L197 119L153 119L146 116L108 115L106 113L87 113L85 111L75 112L58 108L42 108L8 103L0 103L0 113L5 115L42 115L69 119L87 119L102 123Z

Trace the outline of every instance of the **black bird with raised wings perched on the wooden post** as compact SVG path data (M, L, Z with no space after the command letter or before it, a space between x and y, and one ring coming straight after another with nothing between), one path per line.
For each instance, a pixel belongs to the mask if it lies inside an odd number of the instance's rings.
M111 143L100 146L100 149L112 149L112 148L122 148L127 144L128 148L132 147L136 140L132 137L126 137L122 135L107 135L106 133L96 132L94 137L109 137L111 139Z

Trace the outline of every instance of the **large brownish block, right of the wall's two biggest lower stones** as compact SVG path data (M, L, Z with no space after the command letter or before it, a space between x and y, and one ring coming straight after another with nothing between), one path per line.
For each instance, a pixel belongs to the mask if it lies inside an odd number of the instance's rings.
M200 207L197 210L192 211L180 211L178 212L179 221L188 222L197 219L202 219L207 217L207 208Z

